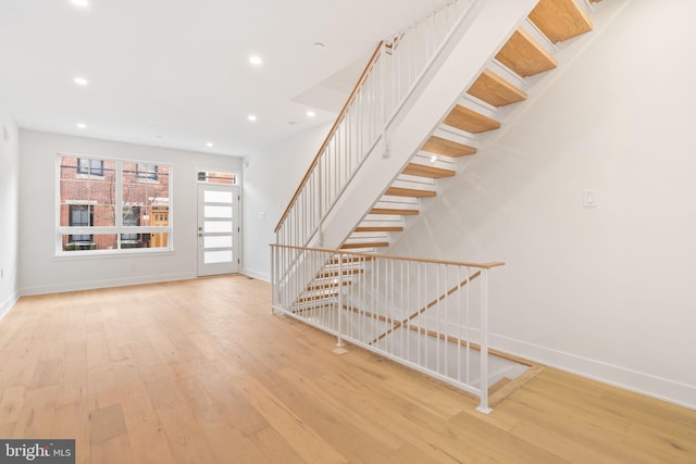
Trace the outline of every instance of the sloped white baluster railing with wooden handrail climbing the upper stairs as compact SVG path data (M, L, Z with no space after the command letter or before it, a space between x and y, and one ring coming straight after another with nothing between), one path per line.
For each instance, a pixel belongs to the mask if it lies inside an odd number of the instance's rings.
M426 71L462 23L471 0L455 0L375 49L274 231L276 243L323 246L322 222ZM386 140L385 140L386 145Z

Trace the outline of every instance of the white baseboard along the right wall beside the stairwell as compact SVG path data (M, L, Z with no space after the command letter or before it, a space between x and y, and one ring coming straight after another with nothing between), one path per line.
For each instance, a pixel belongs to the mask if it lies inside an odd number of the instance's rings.
M502 352L518 355L593 380L623 388L639 394L696 410L696 386L591 360L551 348L540 347L506 336L490 334L489 344Z

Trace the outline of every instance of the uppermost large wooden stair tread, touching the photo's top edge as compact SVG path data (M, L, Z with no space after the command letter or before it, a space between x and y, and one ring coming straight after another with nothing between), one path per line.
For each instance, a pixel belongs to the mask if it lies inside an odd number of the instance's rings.
M529 17L554 43L592 30L592 21L573 0L539 0Z

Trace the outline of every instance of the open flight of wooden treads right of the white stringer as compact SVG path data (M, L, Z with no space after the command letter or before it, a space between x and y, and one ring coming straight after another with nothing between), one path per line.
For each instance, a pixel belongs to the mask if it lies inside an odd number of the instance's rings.
M457 159L475 154L482 135L501 127L506 108L526 99L525 90L538 81L533 78L557 67L549 50L592 27L574 0L540 0L340 248L376 252L389 247L409 217L423 211L422 199L437 195L439 179L457 175Z

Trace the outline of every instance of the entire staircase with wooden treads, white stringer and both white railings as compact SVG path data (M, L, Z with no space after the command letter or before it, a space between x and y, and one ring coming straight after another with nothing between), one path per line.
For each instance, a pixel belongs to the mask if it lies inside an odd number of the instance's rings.
M406 90L394 84L398 57L419 34L381 45L275 229L274 310L474 392L490 411L488 385L515 368L488 368L487 273L502 263L378 252L462 159L485 155L486 137L557 67L555 51L592 30L591 3L580 1L450 3L425 21L458 18L440 47L424 47L415 61L427 64Z

